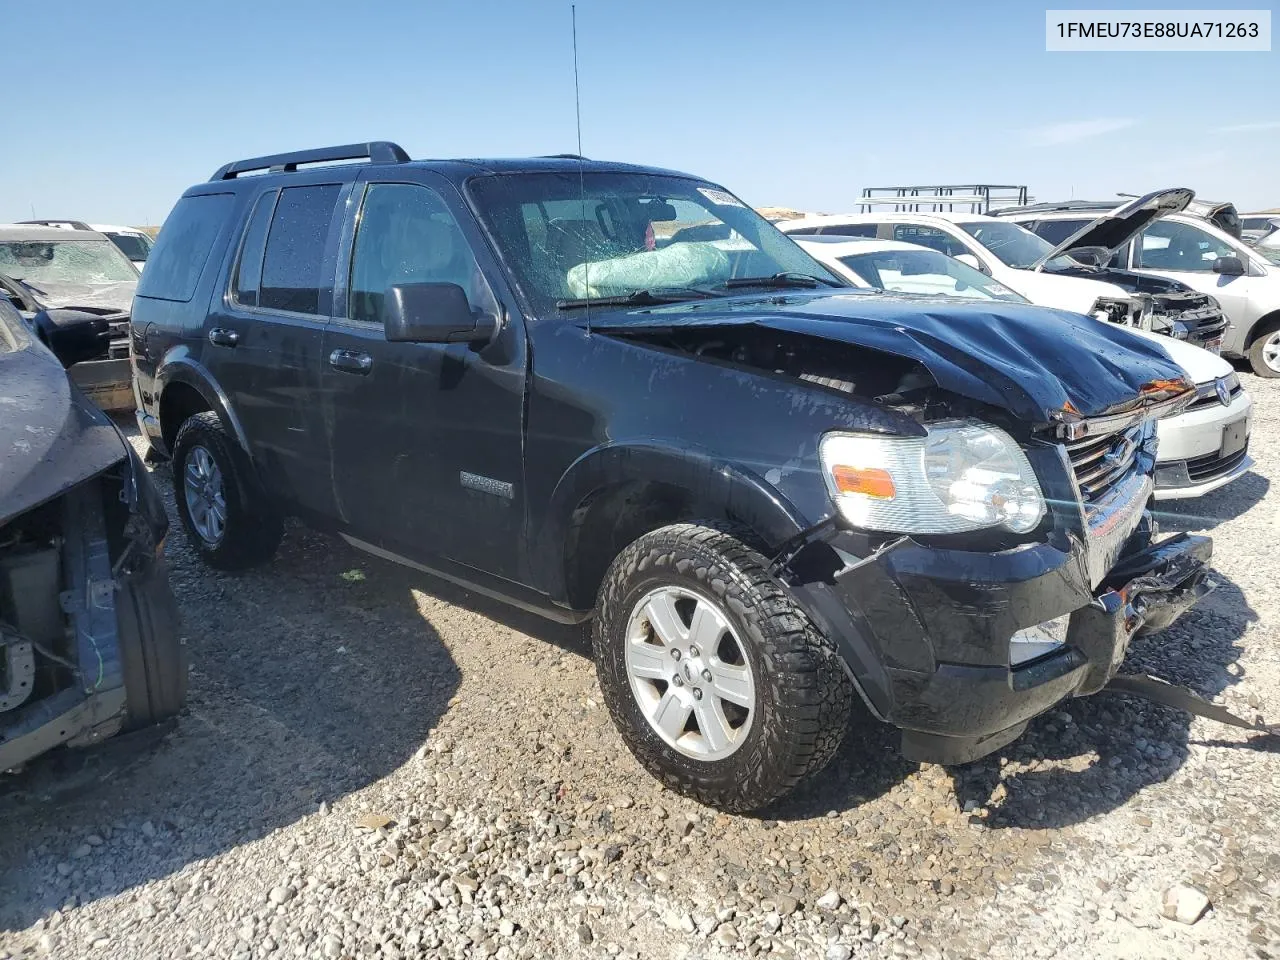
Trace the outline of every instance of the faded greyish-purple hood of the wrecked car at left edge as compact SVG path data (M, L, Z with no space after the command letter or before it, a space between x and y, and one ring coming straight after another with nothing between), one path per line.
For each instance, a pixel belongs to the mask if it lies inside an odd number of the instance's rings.
M120 434L72 387L52 353L33 342L15 311L0 307L19 340L0 332L0 524L52 499L127 456Z

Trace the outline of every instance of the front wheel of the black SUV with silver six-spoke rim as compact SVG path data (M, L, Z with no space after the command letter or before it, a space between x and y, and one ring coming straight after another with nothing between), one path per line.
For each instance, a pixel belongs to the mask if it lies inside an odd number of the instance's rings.
M778 800L827 765L849 723L852 684L831 643L726 530L676 524L623 549L593 648L627 746L709 806Z

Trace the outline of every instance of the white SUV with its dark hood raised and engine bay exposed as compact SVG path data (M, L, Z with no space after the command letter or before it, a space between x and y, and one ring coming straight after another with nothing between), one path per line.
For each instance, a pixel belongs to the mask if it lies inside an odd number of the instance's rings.
M1190 191L1162 191L1139 197L1097 229L1057 247L1018 223L968 212L836 214L774 225L792 237L876 237L932 247L982 270L1032 303L1217 349L1226 321L1211 296L1183 283L1102 265L1166 205L1181 209L1192 196Z

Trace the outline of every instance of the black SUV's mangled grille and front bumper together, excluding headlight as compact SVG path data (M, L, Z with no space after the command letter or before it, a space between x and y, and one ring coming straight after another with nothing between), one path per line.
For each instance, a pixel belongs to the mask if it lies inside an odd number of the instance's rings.
M872 710L902 730L909 759L966 763L1004 746L1062 699L1105 687L1134 636L1213 588L1208 538L1155 539L1155 417L1188 394L1176 381L1149 393L1102 417L1064 412L1024 444L1048 507L1033 541L874 543L828 524L778 556L777 576L836 640Z

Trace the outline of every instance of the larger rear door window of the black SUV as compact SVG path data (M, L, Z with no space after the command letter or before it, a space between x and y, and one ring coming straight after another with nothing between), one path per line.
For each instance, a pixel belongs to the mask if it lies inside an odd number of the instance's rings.
M280 191L266 234L257 296L260 307L320 314L321 288L333 289L333 279L324 275L324 253L340 192L338 183Z

